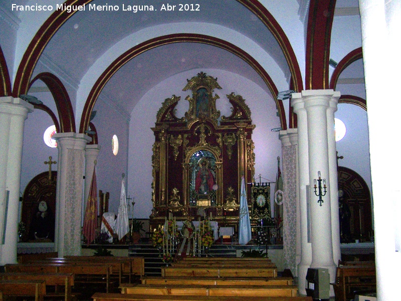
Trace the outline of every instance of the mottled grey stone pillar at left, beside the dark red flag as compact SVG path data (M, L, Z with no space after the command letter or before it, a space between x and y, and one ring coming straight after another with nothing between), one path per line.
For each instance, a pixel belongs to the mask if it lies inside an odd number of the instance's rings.
M85 134L57 133L55 249L59 257L81 254L84 153L91 138Z

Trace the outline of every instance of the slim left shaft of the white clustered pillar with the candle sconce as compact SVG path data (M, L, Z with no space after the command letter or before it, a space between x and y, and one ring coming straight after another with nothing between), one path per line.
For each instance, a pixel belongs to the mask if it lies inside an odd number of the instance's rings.
M306 295L306 272L312 262L311 243L308 240L308 207L307 194L309 190L309 156L308 156L308 125L306 110L301 93L293 93L291 105L298 120L298 189L299 189L299 218L300 218L300 262L298 264L298 291Z

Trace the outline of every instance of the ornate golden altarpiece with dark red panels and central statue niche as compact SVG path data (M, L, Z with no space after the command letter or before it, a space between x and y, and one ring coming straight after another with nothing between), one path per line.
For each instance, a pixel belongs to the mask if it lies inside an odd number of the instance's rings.
M220 117L215 89L221 89L217 78L200 72L183 88L192 93L185 98L189 109L184 117L175 116L180 100L175 95L157 112L152 128L151 229L164 224L165 217L193 220L199 212L212 216L219 226L237 228L241 179L244 175L249 183L255 173L255 125L245 99L234 93L227 95L232 114ZM247 194L250 204L250 189Z

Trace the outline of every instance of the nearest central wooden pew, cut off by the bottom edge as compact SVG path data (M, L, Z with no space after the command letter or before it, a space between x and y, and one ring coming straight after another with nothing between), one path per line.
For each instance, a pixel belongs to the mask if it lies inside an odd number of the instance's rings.
M174 296L95 293L93 301L312 301L312 297L255 297L255 296Z

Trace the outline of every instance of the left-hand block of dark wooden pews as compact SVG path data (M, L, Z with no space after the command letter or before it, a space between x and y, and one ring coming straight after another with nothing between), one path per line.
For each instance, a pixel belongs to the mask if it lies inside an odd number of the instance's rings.
M0 274L0 291L3 295L31 295L27 289L9 291L9 281L45 281L46 296L65 301L76 299L82 292L90 297L94 291L112 292L123 283L139 280L144 275L143 257L118 256L66 256L25 258L18 264L6 264L5 272ZM7 284L9 285L9 284ZM29 285L29 287L28 287ZM23 286L24 287L24 286ZM72 292L73 291L73 292ZM41 293L38 298L41 299Z

